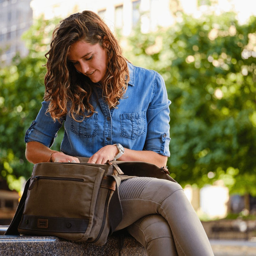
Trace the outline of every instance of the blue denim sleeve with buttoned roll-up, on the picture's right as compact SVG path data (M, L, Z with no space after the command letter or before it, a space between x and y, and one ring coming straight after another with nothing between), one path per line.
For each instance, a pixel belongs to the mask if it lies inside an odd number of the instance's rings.
M170 103L165 82L162 76L157 73L153 95L147 110L148 129L144 149L155 151L167 157L170 156Z

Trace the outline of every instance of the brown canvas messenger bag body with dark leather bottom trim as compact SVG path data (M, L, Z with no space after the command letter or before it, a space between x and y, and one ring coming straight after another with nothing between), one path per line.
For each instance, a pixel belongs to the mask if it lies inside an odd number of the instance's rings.
M105 244L122 218L119 174L111 163L34 165L18 231Z

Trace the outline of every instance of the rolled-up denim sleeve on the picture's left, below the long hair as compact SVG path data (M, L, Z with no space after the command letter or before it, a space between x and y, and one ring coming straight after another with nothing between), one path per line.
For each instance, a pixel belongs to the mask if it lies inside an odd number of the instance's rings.
M42 102L42 107L36 119L32 122L25 134L25 142L36 141L50 147L53 144L54 138L57 137L57 132L62 126L62 122L52 119L49 113L46 113L49 102Z

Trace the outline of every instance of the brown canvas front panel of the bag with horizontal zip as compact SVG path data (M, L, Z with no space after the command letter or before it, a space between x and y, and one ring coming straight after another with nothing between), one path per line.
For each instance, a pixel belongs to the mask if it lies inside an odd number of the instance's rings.
M24 214L89 220L95 207L93 195L96 193L97 198L104 170L88 167L84 174L80 172L73 177L35 174L30 181Z

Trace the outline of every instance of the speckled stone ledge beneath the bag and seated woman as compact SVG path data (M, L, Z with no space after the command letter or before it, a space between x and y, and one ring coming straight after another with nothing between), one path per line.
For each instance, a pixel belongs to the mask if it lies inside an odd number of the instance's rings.
M86 242L67 241L57 237L40 236L0 236L0 255L5 256L146 256L144 247L131 236L122 239L113 235L108 238L104 246L88 244Z

